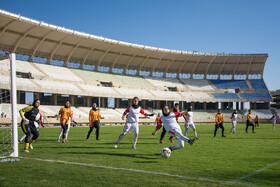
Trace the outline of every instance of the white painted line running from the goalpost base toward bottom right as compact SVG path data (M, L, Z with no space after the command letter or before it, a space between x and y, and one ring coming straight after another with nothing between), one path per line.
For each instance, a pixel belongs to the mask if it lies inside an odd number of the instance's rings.
M223 181L223 180L216 180L216 179L208 179L208 178L202 178L202 177L189 177L189 176L183 176L183 175L174 175L169 173L162 173L162 172L153 172L153 171L146 171L146 170L138 170L138 169L130 169L130 168L117 168L117 167L111 167L111 166L102 166L102 165L95 165L90 163L79 163L79 162L69 162L69 161L62 161L62 160L49 160L49 159L41 159L41 158L28 158L28 157L20 157L22 159L27 160L37 160L37 161L43 161L43 162L51 162L51 163L62 163L62 164L69 164L69 165L80 165L80 166L90 166L95 168L104 168L104 169L112 169L112 170L123 170L123 171L132 171L132 172L138 172L138 173L147 173L147 174L153 174L153 175L164 175L168 177L178 177L178 178L184 178L184 179L192 179L192 180L198 180L198 181L209 181L209 182L219 182L224 184L239 184L244 186L254 186L252 184L246 184L241 183L238 181Z

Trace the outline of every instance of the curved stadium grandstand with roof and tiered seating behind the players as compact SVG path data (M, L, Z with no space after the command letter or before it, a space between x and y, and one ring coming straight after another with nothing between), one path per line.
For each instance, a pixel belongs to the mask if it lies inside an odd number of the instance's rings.
M213 122L221 108L226 121L232 109L271 117L271 95L263 80L268 54L189 52L149 47L86 34L0 10L0 89L7 90L8 53L16 53L18 107L27 97L41 100L47 123L66 100L74 118L88 123L93 102L104 124L123 123L123 108L138 96L154 113L175 102L193 107L196 122ZM1 96L2 97L2 96ZM2 103L0 112L7 113ZM1 119L2 123L5 120ZM142 123L153 122L142 119Z

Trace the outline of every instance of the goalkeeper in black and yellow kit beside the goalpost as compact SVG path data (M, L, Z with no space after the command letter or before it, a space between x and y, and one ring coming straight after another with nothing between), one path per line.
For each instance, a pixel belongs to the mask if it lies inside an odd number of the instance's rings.
M27 106L19 111L19 114L22 118L21 120L21 128L22 131L26 134L25 144L24 144L24 152L29 153L28 147L29 144L32 144L39 137L39 132L37 127L35 126L36 116L39 114L39 106L40 100L35 99L33 104ZM31 138L31 134L33 135Z

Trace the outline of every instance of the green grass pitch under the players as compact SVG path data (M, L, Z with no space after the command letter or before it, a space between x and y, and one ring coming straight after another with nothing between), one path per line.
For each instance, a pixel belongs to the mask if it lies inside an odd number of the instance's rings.
M159 154L172 145L169 135L159 144L161 131L151 135L155 126L140 126L136 150L133 133L113 148L123 127L101 127L101 141L94 131L85 141L88 127L71 128L67 144L57 142L60 128L41 128L34 150L24 153L19 144L20 161L0 163L0 186L280 186L279 125L260 124L253 134L238 124L229 134L226 124L226 138L220 129L213 138L214 125L196 127L200 139L169 159Z

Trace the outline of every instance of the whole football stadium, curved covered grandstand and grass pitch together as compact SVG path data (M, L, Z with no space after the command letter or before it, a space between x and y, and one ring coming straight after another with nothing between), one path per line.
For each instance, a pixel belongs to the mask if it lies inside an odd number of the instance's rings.
M272 115L279 118L280 110L271 108L272 96L263 79L267 53L157 48L87 34L5 10L0 10L0 53L1 156L8 156L14 147L6 143L10 141L6 129L11 128L13 119L10 54L15 54L18 127L18 111L36 99L40 100L45 127L40 127L34 150L24 153L23 143L18 144L19 160L0 163L1 173L6 173L0 175L3 186L91 186L91 180L96 180L96 186L280 185L279 130L276 127L272 131L271 125ZM154 115L140 115L136 150L131 149L133 133L114 149L126 124L123 113L134 104L134 97L139 98L147 114ZM75 127L71 127L69 141L62 144L57 142L61 125L57 116L67 101ZM101 141L94 140L94 133L86 139L93 103L104 118L100 120ZM176 103L180 111L192 108L200 139L164 159L160 150L172 146L169 135L159 144L160 132L155 136L152 132L162 108L173 108ZM213 139L218 109L224 115L224 139L219 130ZM255 127L256 134L250 127L245 133L249 109L261 124ZM239 131L229 134L234 110ZM178 118L182 130L184 122ZM188 132L193 137L192 129ZM18 128L17 139L22 134ZM29 172L35 172L34 176Z

